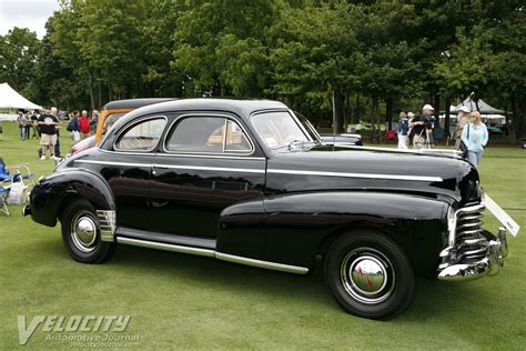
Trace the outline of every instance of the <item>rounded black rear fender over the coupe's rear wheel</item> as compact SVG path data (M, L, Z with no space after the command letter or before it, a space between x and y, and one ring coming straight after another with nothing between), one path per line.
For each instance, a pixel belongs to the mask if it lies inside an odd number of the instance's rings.
M103 178L85 169L65 169L50 174L33 188L31 218L54 227L68 199L75 197L89 200L101 210L115 209L115 200Z

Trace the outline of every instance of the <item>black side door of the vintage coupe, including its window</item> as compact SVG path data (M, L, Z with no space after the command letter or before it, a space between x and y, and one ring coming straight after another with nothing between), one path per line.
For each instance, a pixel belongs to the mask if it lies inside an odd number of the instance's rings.
M215 238L224 209L250 200L262 203L265 164L265 158L254 157L254 143L234 116L174 118L153 164L156 230Z

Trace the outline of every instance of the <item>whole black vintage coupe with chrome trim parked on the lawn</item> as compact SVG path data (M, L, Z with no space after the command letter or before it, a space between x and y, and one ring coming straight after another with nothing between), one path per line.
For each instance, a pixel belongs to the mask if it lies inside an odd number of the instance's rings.
M87 263L118 243L299 274L323 262L343 309L388 319L418 274L498 272L505 231L483 229L483 197L454 154L328 147L281 102L191 99L121 118L42 179L24 214L60 221Z

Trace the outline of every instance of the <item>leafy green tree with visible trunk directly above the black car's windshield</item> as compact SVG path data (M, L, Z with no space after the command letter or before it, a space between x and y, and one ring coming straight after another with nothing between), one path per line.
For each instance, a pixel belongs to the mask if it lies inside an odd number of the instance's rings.
M341 131L346 97L361 86L364 54L356 33L365 20L352 4L285 8L273 29L272 90L293 104L305 99L331 107L334 98L335 128Z

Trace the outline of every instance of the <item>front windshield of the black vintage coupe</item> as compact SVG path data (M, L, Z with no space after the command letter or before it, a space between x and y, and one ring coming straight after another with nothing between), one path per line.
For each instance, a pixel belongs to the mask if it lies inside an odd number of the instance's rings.
M252 123L261 140L271 149L314 141L305 128L285 111L254 114Z

